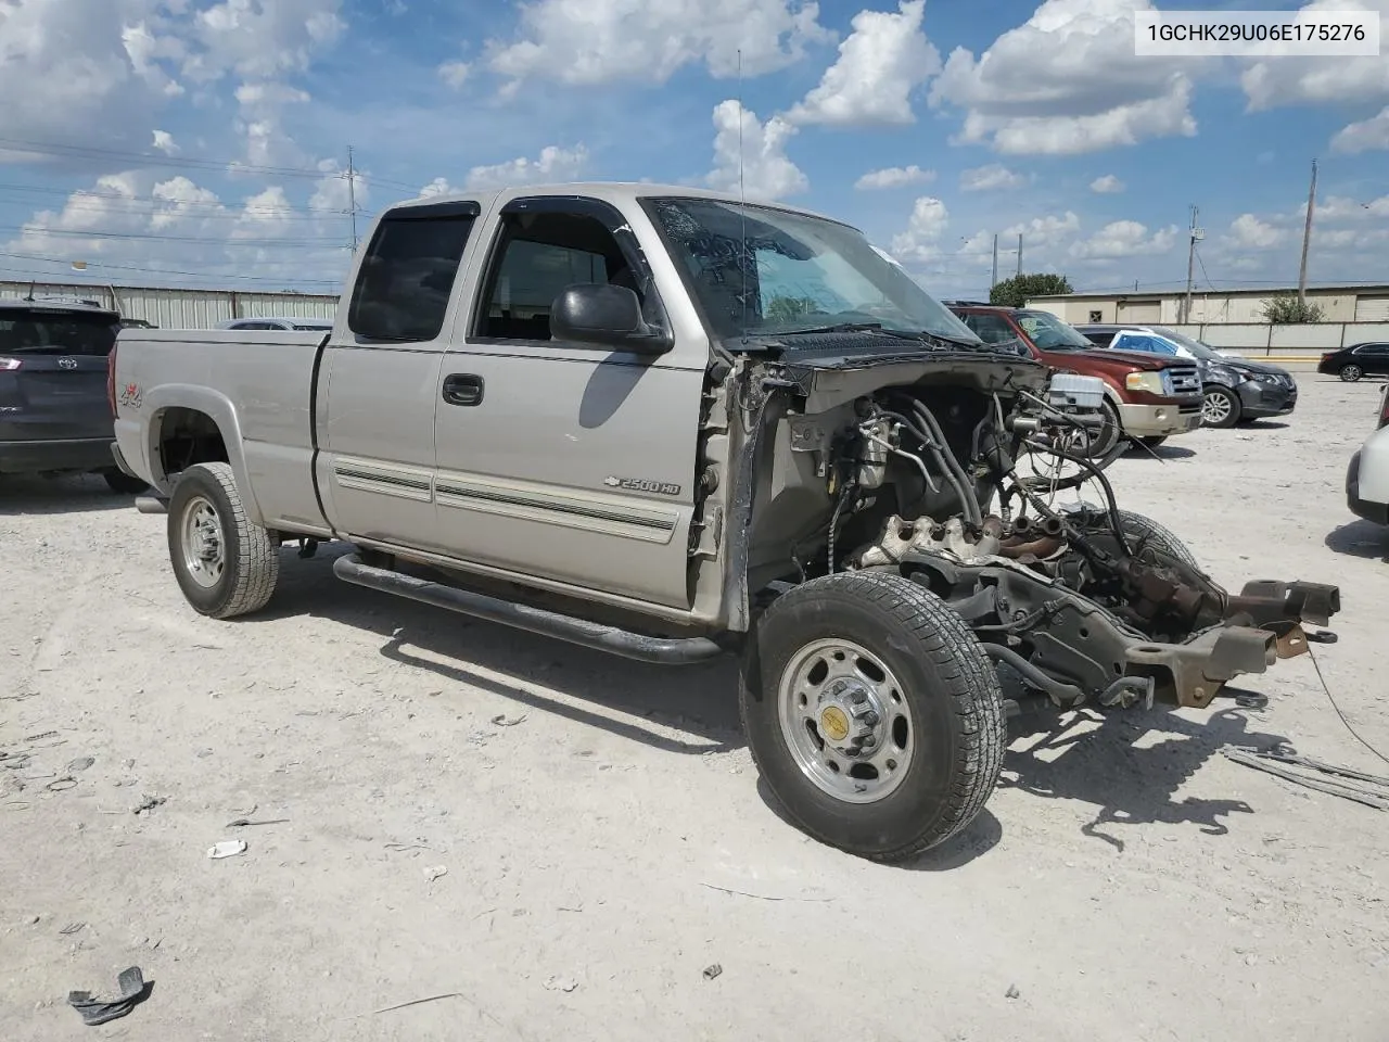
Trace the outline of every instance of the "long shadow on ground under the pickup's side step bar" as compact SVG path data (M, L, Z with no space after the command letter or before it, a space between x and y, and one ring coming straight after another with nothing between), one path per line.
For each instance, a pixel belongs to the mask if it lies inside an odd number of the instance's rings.
M349 549L324 547L318 557L299 560L282 550L271 610L244 624L331 618L381 636L381 654L401 667L513 699L518 711L553 713L664 752L701 756L745 745L731 657L699 665L618 659L350 586L332 574L342 553Z

